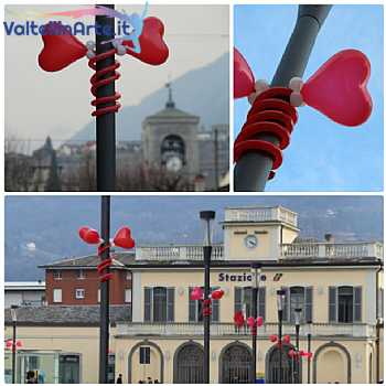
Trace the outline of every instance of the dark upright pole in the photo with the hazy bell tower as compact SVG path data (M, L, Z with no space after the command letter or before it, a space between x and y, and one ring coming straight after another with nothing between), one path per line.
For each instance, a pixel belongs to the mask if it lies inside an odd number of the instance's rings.
M104 7L114 9L114 4ZM111 43L103 42L115 37L115 19L104 15L95 17L95 24L100 26L100 33L96 33L96 54L103 54L111 50ZM115 63L115 57L108 56L96 63L96 69L100 71ZM108 73L105 77L110 76ZM97 98L115 95L115 82L97 88ZM98 108L114 106L114 101L98 105ZM112 192L116 190L116 116L107 112L96 117L96 173L97 191Z

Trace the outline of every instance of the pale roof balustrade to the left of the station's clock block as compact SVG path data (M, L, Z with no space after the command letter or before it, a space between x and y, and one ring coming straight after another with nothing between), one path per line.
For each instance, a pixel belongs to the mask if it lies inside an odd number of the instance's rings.
M203 260L203 247L200 245L173 245L165 247L137 247L137 260ZM222 245L214 245L212 249L212 260L223 260L224 248Z

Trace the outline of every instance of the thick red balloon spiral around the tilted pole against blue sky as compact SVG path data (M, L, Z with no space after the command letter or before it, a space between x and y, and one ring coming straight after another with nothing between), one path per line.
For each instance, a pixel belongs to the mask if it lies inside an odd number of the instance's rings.
M267 153L272 159L269 179L275 176L275 170L282 163L281 151L288 147L298 121L298 112L290 104L291 93L292 89L287 87L271 87L258 95L235 141L235 162L250 151ZM271 135L279 143L258 139L260 135Z

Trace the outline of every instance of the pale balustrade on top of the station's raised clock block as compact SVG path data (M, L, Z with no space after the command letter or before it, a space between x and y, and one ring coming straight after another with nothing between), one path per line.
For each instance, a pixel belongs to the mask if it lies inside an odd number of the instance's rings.
M226 222L269 222L280 221L298 226L298 215L281 206L248 207L225 210Z

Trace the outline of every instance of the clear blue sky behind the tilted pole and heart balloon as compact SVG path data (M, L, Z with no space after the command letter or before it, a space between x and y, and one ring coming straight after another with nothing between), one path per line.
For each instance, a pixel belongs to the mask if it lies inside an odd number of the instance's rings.
M236 6L235 46L255 77L271 81L293 29L296 6ZM305 106L283 163L266 191L380 191L383 189L383 7L334 6L311 54L304 79L344 49L363 51L372 63L373 112L360 128L345 128ZM248 101L235 101L235 136Z

